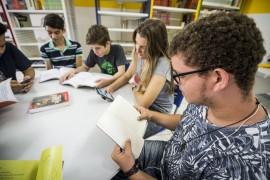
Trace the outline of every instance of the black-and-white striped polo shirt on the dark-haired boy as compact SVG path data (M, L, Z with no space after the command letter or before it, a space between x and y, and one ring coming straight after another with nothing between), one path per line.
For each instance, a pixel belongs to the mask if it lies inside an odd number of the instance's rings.
M53 68L71 67L76 68L76 57L82 56L82 48L80 43L71 41L65 38L66 47L64 51L55 47L51 40L50 42L41 46L41 57L45 61L51 61Z

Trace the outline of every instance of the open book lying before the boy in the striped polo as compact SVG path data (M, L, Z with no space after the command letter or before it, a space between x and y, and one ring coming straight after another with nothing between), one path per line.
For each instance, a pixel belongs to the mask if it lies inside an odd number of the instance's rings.
M61 67L60 69L49 69L40 73L39 82L44 82L53 79L60 79L62 75L73 68Z

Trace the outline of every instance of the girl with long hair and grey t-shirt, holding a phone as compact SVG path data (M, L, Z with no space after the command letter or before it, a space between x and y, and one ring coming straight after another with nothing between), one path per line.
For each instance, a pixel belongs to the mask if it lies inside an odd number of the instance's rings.
M133 58L127 72L108 86L113 93L133 78L132 91L140 106L170 113L173 105L173 81L168 57L168 36L165 24L147 19L133 32ZM156 134L161 126L148 121L144 138Z

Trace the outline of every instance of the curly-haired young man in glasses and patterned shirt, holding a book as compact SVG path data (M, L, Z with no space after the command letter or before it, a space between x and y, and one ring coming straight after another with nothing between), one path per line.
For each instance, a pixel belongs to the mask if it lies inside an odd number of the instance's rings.
M145 141L137 161L129 140L124 151L116 146L112 158L126 178L270 179L270 116L253 92L265 52L255 22L240 13L213 13L185 26L169 54L190 104L181 119L138 108L139 118L150 116L174 134L168 142Z

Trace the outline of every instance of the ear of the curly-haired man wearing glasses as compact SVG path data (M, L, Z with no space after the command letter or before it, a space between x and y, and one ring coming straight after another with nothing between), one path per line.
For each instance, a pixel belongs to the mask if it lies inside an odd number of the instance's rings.
M213 90L215 92L225 89L228 86L230 80L229 73L222 68L214 69L212 78L214 82Z

